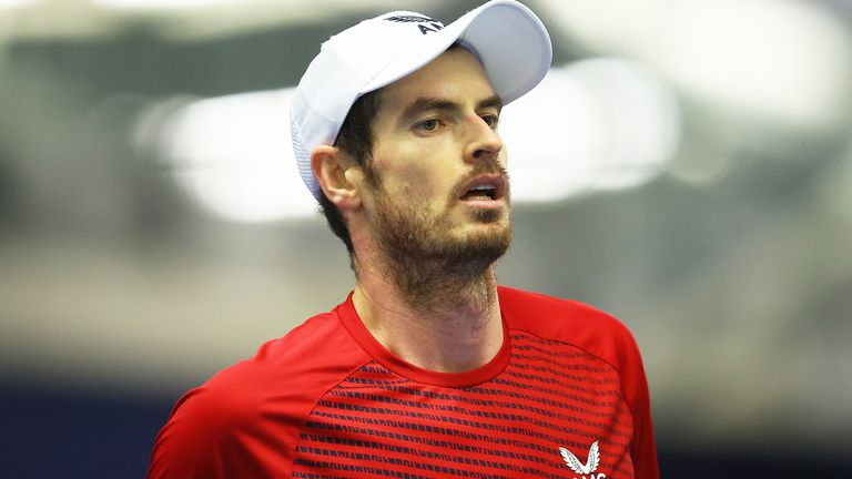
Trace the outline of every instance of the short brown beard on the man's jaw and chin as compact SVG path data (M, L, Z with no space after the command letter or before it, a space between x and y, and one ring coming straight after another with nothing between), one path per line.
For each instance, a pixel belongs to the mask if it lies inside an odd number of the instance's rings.
M375 173L375 172L373 172ZM500 174L508 185L506 170L499 165L483 165L469 176ZM369 175L368 175L369 176ZM483 306L495 298L494 277L489 267L511 245L510 218L504 221L503 212L476 210L469 221L486 225L464 235L454 235L449 214L433 212L425 205L393 198L382 181L373 176L375 194L375 235L383 253L382 272L395 281L403 297L413 307L435 310L452 307L459 293L470 292L480 297ZM448 204L458 201L468 181L453 188ZM508 186L507 186L508 187ZM506 193L506 202L509 194Z

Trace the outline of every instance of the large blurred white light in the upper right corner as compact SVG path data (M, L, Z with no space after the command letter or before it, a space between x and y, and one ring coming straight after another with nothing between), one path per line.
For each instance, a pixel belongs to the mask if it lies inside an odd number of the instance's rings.
M678 9L661 68L719 108L799 130L848 115L852 49L843 24L813 2L712 0ZM677 41L673 41L677 39Z

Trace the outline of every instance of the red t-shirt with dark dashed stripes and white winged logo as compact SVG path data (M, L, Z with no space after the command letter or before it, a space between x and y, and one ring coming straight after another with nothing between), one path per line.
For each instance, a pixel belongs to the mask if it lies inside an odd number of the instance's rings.
M485 366L434 373L388 351L352 295L184 395L153 478L659 478L627 328L590 306L498 288Z

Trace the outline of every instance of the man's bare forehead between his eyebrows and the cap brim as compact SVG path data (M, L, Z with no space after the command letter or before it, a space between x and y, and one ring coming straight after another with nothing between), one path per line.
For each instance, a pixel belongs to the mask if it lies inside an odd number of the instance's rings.
M494 94L494 86L476 55L462 47L454 47L422 69L383 88L379 112L403 110L423 98L464 105L468 102L475 104Z

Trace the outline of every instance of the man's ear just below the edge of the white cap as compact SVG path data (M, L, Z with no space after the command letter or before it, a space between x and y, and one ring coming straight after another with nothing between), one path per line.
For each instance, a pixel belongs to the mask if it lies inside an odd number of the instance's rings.
M318 145L311 152L311 170L323 193L335 206L341 210L357 210L361 206L358 183L349 181L358 167L346 153L336 146Z

